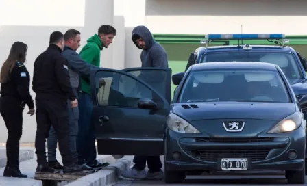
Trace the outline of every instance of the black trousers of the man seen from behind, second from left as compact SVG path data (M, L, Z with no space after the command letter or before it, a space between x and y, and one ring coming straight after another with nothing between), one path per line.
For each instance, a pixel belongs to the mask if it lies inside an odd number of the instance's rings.
M69 112L66 100L44 101L36 99L36 138L35 148L38 164L46 165L46 138L52 125L58 135L59 150L64 166L73 163L69 148Z

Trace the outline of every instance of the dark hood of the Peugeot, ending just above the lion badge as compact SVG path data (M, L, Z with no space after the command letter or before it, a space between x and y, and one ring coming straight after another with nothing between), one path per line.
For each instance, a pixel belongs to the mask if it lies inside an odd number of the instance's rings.
M295 112L294 103L175 103L171 111L191 122L211 119L256 119L279 121Z

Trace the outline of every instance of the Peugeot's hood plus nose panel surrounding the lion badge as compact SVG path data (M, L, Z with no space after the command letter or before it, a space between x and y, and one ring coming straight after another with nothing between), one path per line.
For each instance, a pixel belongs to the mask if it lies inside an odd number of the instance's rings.
M208 137L258 137L295 108L294 103L181 103L173 105L172 111ZM230 122L244 122L243 131L226 131Z

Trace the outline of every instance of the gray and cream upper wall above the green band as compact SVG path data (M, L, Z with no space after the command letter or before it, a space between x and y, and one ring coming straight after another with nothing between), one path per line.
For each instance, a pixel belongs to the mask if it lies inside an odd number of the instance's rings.
M306 35L307 1L148 0L145 23L159 34Z

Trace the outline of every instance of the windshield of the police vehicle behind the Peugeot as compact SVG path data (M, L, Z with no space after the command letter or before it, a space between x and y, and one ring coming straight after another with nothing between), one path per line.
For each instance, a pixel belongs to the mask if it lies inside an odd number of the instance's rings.
M201 63L204 62L267 62L280 66L291 84L297 83L303 78L302 72L299 71L295 58L291 53L251 51L208 53L201 59Z

